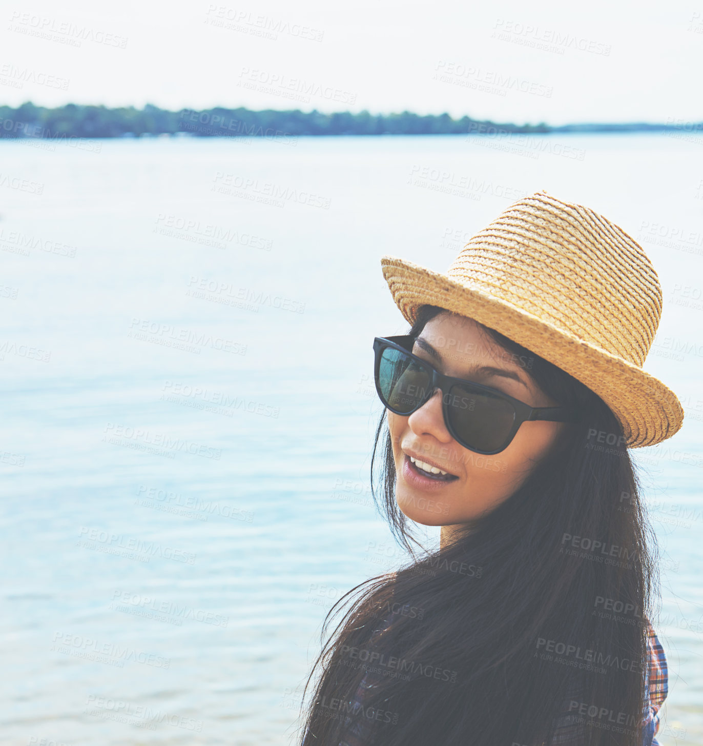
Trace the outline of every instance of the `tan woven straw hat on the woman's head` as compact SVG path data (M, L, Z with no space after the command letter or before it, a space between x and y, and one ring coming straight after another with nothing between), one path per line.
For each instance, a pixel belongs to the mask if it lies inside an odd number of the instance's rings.
M675 393L642 369L661 316L657 273L637 242L588 207L535 192L476 233L446 275L389 255L381 266L411 325L432 304L519 342L596 392L630 448L681 427Z

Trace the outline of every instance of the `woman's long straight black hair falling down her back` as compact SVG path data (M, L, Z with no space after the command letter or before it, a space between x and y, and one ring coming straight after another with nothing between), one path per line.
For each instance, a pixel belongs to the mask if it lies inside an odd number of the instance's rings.
M409 333L419 335L438 313L449 312L421 307ZM532 359L540 389L584 417L514 494L449 545L426 551L397 506L384 410L371 485L408 560L330 609L323 638L347 608L306 683L308 692L318 672L302 746L338 746L343 724L356 721L383 746L540 746L557 726L559 743L642 743L657 549L622 426L579 380L479 327ZM388 609L415 612L394 615L381 643L374 633ZM355 709L365 660L383 675Z

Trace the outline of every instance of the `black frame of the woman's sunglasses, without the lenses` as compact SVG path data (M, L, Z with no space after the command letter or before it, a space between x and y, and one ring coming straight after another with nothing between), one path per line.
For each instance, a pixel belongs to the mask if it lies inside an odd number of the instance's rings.
M546 420L550 422L577 422L580 419L579 411L574 409L573 407L531 407L524 401L520 401L519 399L509 396L508 394L505 394L498 389L493 389L491 388L491 386L484 386L482 383L476 383L475 381L467 380L466 378L455 378L453 376L445 375L444 373L438 371L435 366L432 365L432 363L428 363L427 360L423 360L423 358L417 357L417 355L413 354L413 345L414 336L410 334L403 334L400 336L374 337L373 380L374 383L376 383L376 393L379 395L379 399L386 407L386 409L391 410L391 412L393 412L394 414L402 415L403 417L409 417L410 415L412 415L412 413L417 412L420 407L423 407L423 405L426 404L426 402L435 395L435 391L437 389L441 389L442 414L444 416L444 424L447 425L447 430L450 431L451 436L453 437L453 439L455 439L456 442L458 442L464 448L468 448L470 451L473 451L474 453L491 456L493 454L499 454L501 451L505 451L505 448L508 448L508 445L511 444L517 433L517 430L520 429L520 425L523 424L523 422L532 420ZM395 410L393 407L389 407L381 392L379 381L381 357L382 352L385 350L385 348L389 347L408 354L410 357L412 357L413 360L417 362L418 365L424 366L426 369L429 369L429 372L432 374L432 381L430 383L430 386L428 386L427 394L423 397L423 400L420 401L420 404L417 404L417 407L414 407L414 409L410 412L400 412L398 410ZM505 442L501 445L500 448L497 448L495 451L479 451L478 448L473 448L472 446L464 443L461 437L458 436L458 433L456 433L450 421L448 411L449 405L447 404L447 398L450 394L450 389L452 386L456 385L473 386L473 388L478 389L479 392L486 392L493 395L494 397L502 398L512 405L515 411L513 426L510 430L510 433L505 436Z

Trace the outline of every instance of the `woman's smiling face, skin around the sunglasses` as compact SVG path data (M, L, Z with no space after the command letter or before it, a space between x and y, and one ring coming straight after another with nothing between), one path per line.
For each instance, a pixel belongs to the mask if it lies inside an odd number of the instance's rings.
M439 371L483 383L532 407L555 407L529 375L529 360L496 344L473 319L441 313L427 322L413 353ZM496 370L480 370L481 367ZM408 417L388 410L397 471L396 500L413 521L443 526L442 539L457 524L473 519L507 500L557 442L563 422L523 422L510 445L485 456L459 445L444 424L442 393L437 389ZM453 474L451 481L417 478L409 454Z

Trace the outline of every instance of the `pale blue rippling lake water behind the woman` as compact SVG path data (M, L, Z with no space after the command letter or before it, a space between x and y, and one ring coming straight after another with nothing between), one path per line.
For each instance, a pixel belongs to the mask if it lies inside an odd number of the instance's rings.
M663 287L646 369L687 419L633 453L660 740L703 742L702 175L664 134L1 141L2 741L291 742L327 609L400 561L368 491L371 344L407 330L379 258L444 272L546 189Z

